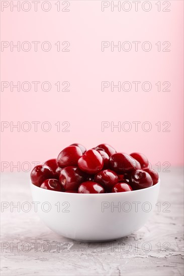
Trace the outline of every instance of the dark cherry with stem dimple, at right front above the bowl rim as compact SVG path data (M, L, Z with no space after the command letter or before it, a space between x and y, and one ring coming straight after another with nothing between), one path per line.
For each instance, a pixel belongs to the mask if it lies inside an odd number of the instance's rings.
M130 184L133 190L139 190L151 187L153 185L153 180L147 172L143 170L136 170L131 174Z

